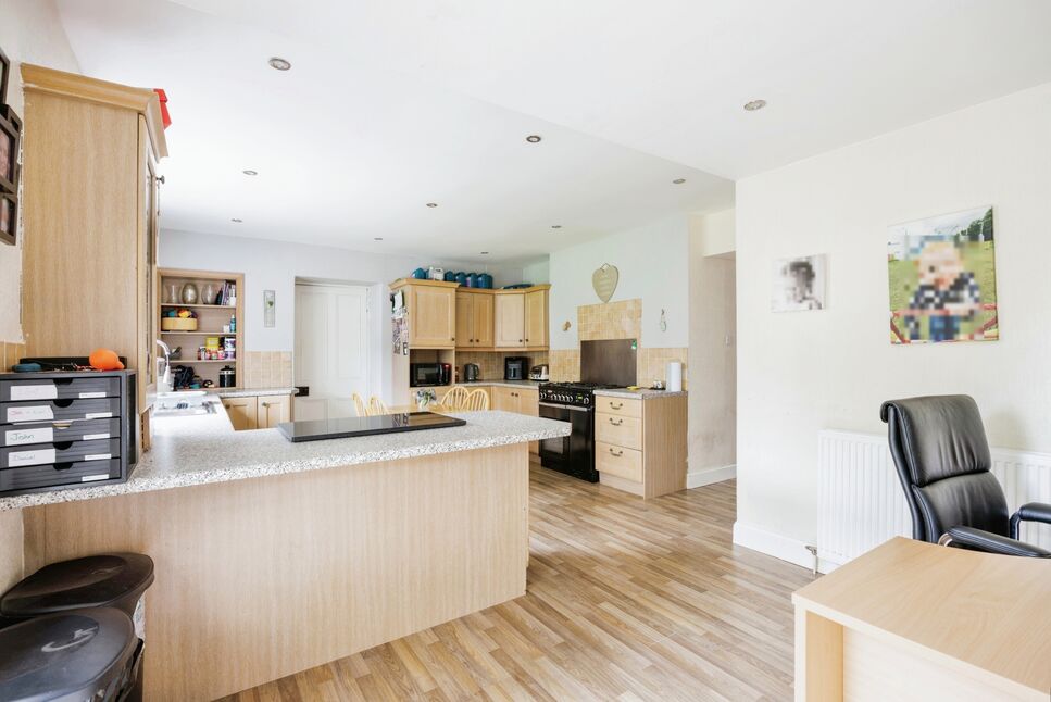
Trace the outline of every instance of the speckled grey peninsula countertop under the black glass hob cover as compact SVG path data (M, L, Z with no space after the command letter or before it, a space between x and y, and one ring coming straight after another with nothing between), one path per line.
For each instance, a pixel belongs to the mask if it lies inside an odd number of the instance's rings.
M252 391L252 393L258 393ZM214 413L157 417L153 449L127 482L0 498L0 511L209 482L397 461L568 436L570 425L510 412L461 412L466 426L292 443L277 429L234 431L217 392Z

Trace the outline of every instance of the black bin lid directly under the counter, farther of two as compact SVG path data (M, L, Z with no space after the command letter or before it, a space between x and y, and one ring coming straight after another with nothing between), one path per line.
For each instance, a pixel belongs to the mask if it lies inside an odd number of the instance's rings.
M103 553L46 565L0 598L0 614L36 616L138 600L153 582L153 560L141 553ZM121 609L127 609L126 606Z

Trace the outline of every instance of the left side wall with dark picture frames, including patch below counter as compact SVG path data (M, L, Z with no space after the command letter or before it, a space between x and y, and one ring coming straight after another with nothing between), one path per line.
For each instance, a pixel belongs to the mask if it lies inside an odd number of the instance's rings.
M0 0L0 48L11 61L7 102L25 115L22 63L37 63L76 72L54 3L50 0ZM23 129L33 125L24 124ZM0 341L22 341L22 238L17 246L0 245ZM0 514L0 591L22 577L22 512Z

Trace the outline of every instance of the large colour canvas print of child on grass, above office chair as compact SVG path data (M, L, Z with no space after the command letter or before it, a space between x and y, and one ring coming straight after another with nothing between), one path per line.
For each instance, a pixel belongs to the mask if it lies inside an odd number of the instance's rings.
M998 339L992 206L890 227L891 343Z

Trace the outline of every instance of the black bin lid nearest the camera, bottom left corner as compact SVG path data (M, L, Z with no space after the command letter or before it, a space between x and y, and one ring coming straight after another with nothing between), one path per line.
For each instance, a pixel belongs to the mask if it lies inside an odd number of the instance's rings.
M93 700L121 684L137 643L130 617L112 607L48 614L0 629L0 700Z

